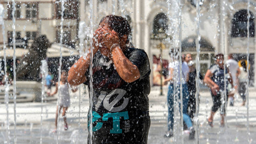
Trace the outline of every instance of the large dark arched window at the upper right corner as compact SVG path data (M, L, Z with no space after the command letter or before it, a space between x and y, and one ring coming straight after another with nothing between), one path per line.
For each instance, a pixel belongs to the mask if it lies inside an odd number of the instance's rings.
M250 11L249 18L249 32L250 37L254 37L255 29L254 29L254 15ZM232 37L247 37L247 10L239 10L235 13L234 18L232 20Z

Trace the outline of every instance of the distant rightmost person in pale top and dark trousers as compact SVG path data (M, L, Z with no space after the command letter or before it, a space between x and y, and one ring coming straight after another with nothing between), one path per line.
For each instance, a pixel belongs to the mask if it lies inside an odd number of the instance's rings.
M247 60L240 60L239 61L240 67L238 68L238 73L237 73L237 77L238 77L238 93L240 94L240 96L243 99L242 105L245 105L246 102L246 85L247 85L247 78L248 78L248 72L247 72Z

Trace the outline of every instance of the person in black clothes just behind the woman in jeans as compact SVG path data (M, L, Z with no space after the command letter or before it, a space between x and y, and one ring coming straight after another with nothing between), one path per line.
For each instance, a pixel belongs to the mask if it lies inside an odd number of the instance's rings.
M188 73L188 114L191 120L193 121L194 113L196 113L196 68L193 66L193 59L191 54L186 54L184 58L185 62L188 63L189 73ZM199 73L199 79L204 79L201 73Z

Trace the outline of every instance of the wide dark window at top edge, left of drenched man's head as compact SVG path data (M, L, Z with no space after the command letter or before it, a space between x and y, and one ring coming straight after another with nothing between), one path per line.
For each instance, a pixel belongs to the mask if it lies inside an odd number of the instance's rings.
M76 19L78 15L78 1L77 0L67 0L64 4L65 10L63 12L63 18L65 19ZM61 18L61 2L56 4L56 15L57 18Z

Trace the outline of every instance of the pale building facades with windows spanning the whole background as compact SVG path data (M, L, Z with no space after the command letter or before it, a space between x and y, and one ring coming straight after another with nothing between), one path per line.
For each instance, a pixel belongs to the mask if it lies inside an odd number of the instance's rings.
M170 0L171 5L177 0ZM5 33L12 35L12 4L1 2L6 8ZM196 56L196 1L181 1L182 52ZM256 86L255 69L255 17L256 1L250 2L249 19L249 59L250 85ZM129 36L135 48L144 49L154 66L153 55L170 62L168 53L174 48L172 18L176 13L168 9L167 0L94 0L93 30L100 20L109 14L126 17L132 26ZM28 39L44 34L51 42L60 42L60 1L23 0L16 1L16 39ZM247 1L245 0L205 0L200 2L200 67L204 74L213 64L217 53L234 54L236 60L246 59L247 49ZM171 19L170 19L171 18ZM63 43L75 47L79 43L79 22L85 22L90 29L90 4L88 0L68 0L65 2L63 22ZM0 34L2 37L2 35ZM0 37L0 40L2 38ZM166 37L169 39L166 40ZM0 43L2 43L0 41ZM152 75L153 76L153 75Z

